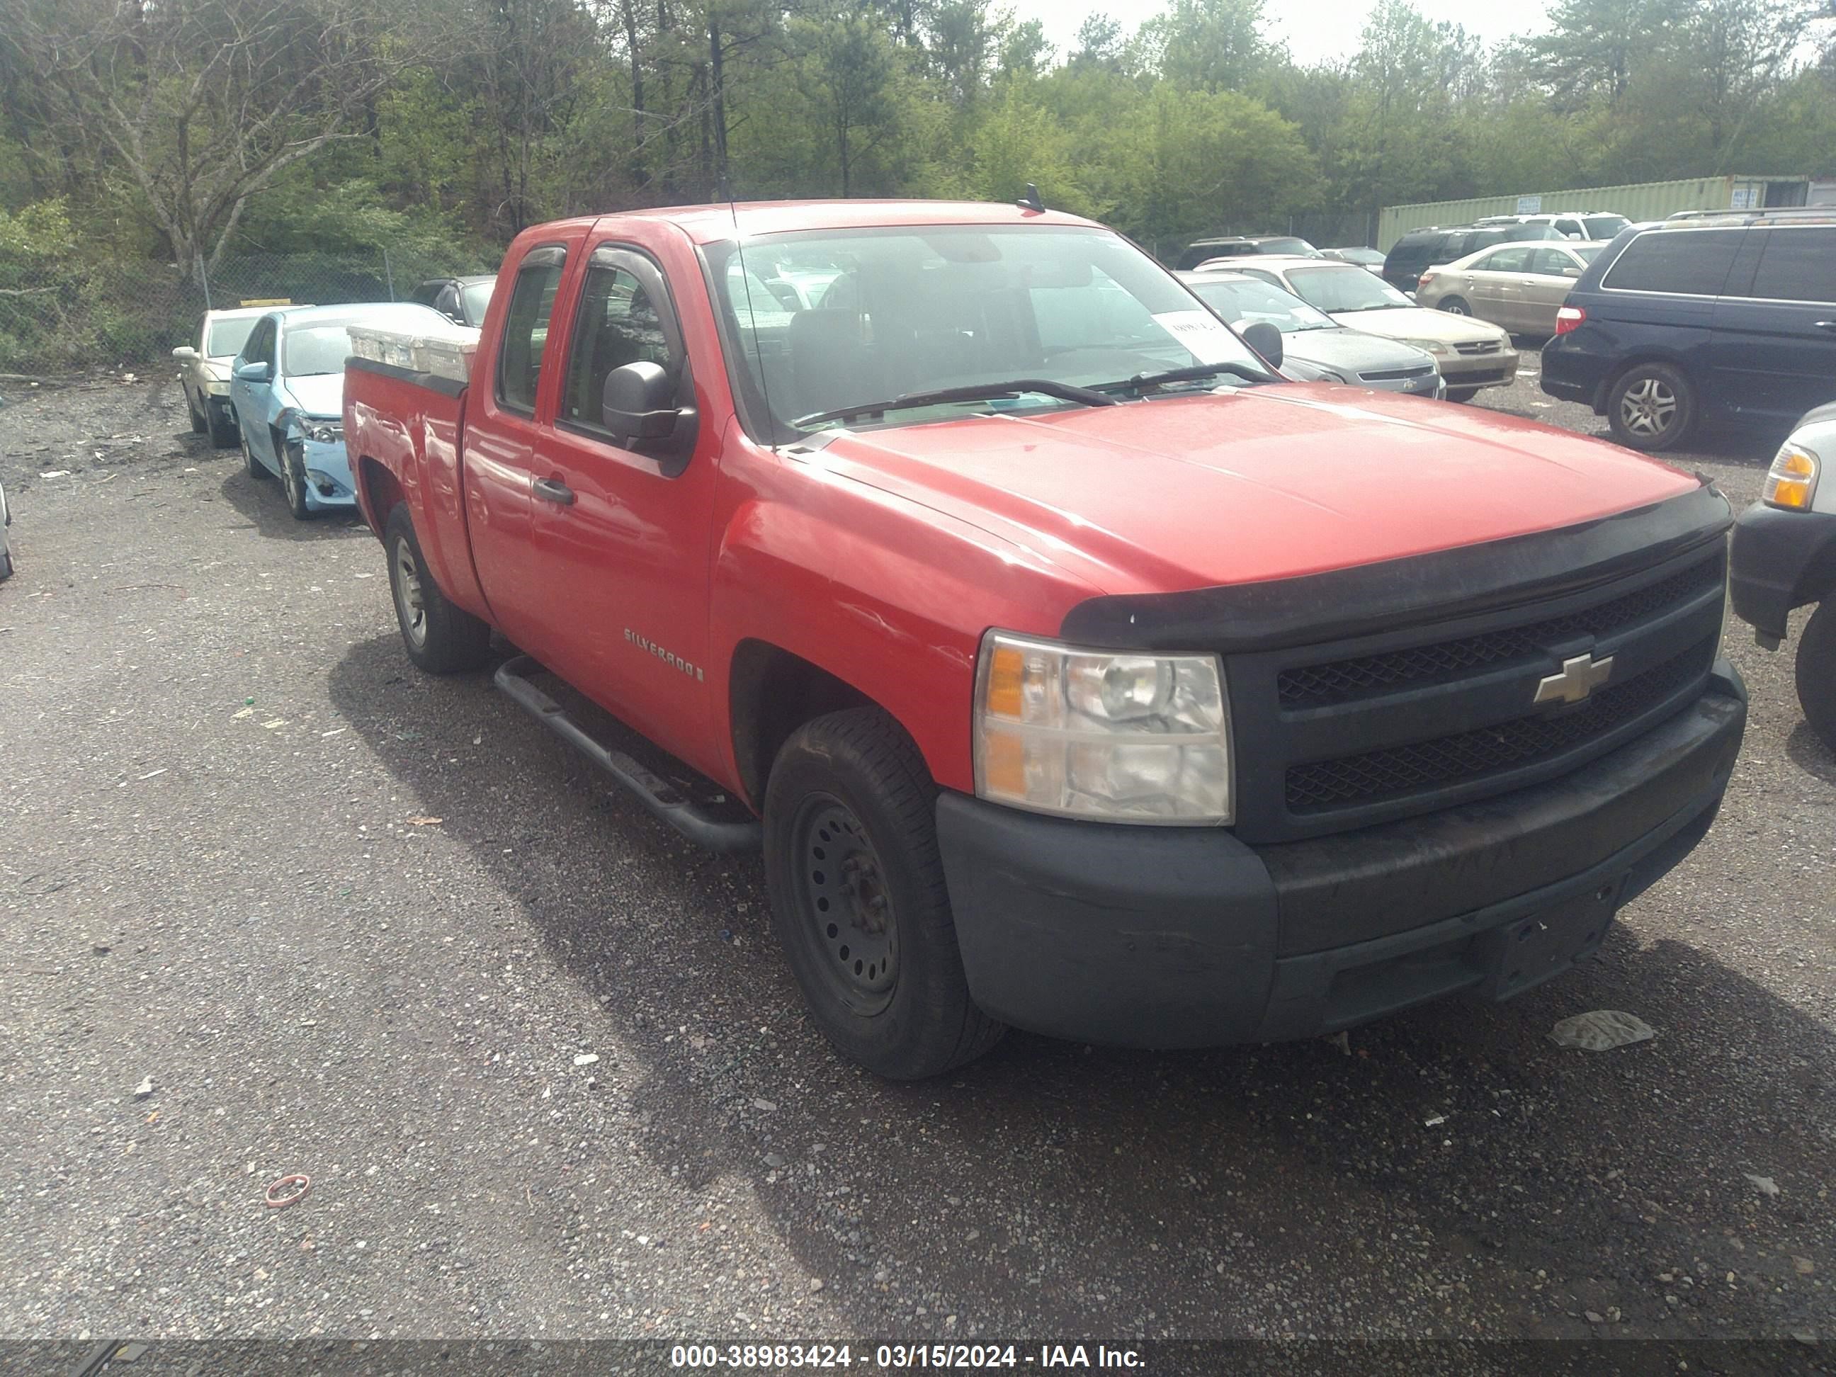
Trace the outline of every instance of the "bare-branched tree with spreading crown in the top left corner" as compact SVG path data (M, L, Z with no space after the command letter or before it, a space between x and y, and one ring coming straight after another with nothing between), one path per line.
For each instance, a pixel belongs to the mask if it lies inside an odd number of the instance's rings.
M215 263L250 196L349 138L409 64L360 0L0 0L9 66L40 118L95 138L132 180L178 266Z

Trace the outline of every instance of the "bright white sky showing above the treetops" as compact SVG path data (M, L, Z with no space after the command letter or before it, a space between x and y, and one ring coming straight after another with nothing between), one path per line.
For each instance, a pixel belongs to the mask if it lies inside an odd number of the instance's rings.
M1135 28L1166 7L1164 0L1008 0L1015 17L1045 22L1047 39L1059 59L1070 51L1083 17L1100 9ZM1546 26L1553 0L1513 0L1513 4L1474 4L1472 0L1416 0L1416 9L1430 20L1465 24L1467 33L1493 44L1513 33L1537 33ZM1285 40L1296 62L1324 62L1349 57L1359 46L1359 31L1371 11L1371 0L1267 0L1269 37Z

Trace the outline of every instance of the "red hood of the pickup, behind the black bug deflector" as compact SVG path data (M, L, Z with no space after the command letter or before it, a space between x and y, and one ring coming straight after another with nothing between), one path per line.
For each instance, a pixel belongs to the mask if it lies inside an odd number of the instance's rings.
M1326 384L837 431L812 463L990 531L1103 593L1375 564L1698 487L1603 441Z

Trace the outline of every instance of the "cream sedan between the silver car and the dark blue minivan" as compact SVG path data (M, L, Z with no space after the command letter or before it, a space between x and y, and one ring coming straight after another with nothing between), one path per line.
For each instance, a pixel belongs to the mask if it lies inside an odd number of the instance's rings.
M1427 349L1447 380L1449 402L1469 402L1480 387L1504 387L1517 376L1517 349L1506 330L1419 307L1364 268L1285 257L1230 259L1228 266L1293 292L1331 316L1335 325Z

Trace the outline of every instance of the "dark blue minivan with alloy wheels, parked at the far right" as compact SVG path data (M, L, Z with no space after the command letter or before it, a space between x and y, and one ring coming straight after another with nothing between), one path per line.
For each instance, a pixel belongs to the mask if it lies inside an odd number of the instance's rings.
M1623 230L1542 349L1542 391L1614 439L1669 450L1698 424L1783 431L1836 400L1836 209L1735 211Z

